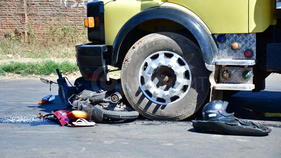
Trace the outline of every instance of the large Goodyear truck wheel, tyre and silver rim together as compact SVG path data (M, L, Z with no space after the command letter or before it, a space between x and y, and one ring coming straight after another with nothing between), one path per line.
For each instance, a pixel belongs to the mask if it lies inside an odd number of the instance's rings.
M127 100L152 120L191 116L207 98L208 78L200 48L174 32L142 37L126 54L121 69Z

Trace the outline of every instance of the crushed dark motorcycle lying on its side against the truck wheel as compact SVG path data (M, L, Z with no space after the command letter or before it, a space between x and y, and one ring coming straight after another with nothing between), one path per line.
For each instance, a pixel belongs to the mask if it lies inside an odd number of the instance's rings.
M79 77L74 82L74 86L67 77L62 77L59 69L56 69L58 79L57 83L44 78L40 80L46 84L58 84L58 96L66 105L67 109L82 110L87 112L88 120L105 121L105 120L130 120L139 116L137 111L133 111L130 107L123 104L126 100L122 100L123 94L120 81L110 79L108 84L106 81L86 81L83 77ZM71 86L68 86L67 81Z

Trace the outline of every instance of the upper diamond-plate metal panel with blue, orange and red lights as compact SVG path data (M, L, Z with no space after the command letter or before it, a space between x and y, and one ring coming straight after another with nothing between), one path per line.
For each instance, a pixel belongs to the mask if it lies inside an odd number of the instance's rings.
M215 34L217 38L220 34ZM256 59L256 33L227 33L224 34L226 41L218 43L220 59ZM240 48L233 50L231 44L239 42ZM247 58L244 56L245 50L250 49L253 51L253 57Z

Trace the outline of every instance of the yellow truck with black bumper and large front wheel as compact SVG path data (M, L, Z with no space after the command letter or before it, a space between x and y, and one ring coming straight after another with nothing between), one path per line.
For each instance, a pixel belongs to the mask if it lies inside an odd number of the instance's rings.
M124 97L152 120L182 120L211 100L265 88L281 72L278 0L95 0L76 46L89 81L121 69Z

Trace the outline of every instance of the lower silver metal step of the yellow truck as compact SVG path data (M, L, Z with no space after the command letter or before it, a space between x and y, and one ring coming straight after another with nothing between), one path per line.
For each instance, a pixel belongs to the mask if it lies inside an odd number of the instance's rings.
M227 84L227 83L218 83L214 85L214 89L218 90L240 90L240 91L249 91L255 88L254 84Z

